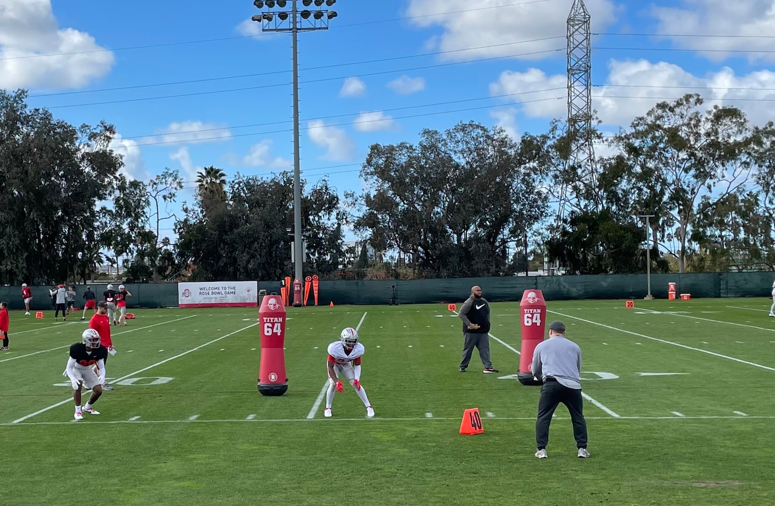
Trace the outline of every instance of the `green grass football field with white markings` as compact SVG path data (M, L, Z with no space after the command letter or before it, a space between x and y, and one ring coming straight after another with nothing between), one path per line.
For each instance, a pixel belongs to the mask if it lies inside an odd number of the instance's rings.
M95 405L102 415L81 422L60 374L85 325L15 311L11 350L0 352L0 504L72 504L83 494L143 506L772 504L769 306L550 302L549 320L565 321L584 352L584 392L602 408L584 402L590 459L576 457L560 406L541 461L539 388L503 378L518 369L509 348L520 349L518 303L492 304L492 334L508 345L491 340L500 374L482 374L476 351L468 372L457 371L460 320L446 306L291 308L281 397L256 388L255 309L140 310L130 327L113 327L119 354L108 378L125 379ZM361 379L377 417L367 419L346 388L332 419L322 406L308 419L325 383L325 347L364 313ZM484 433L460 436L473 407Z

